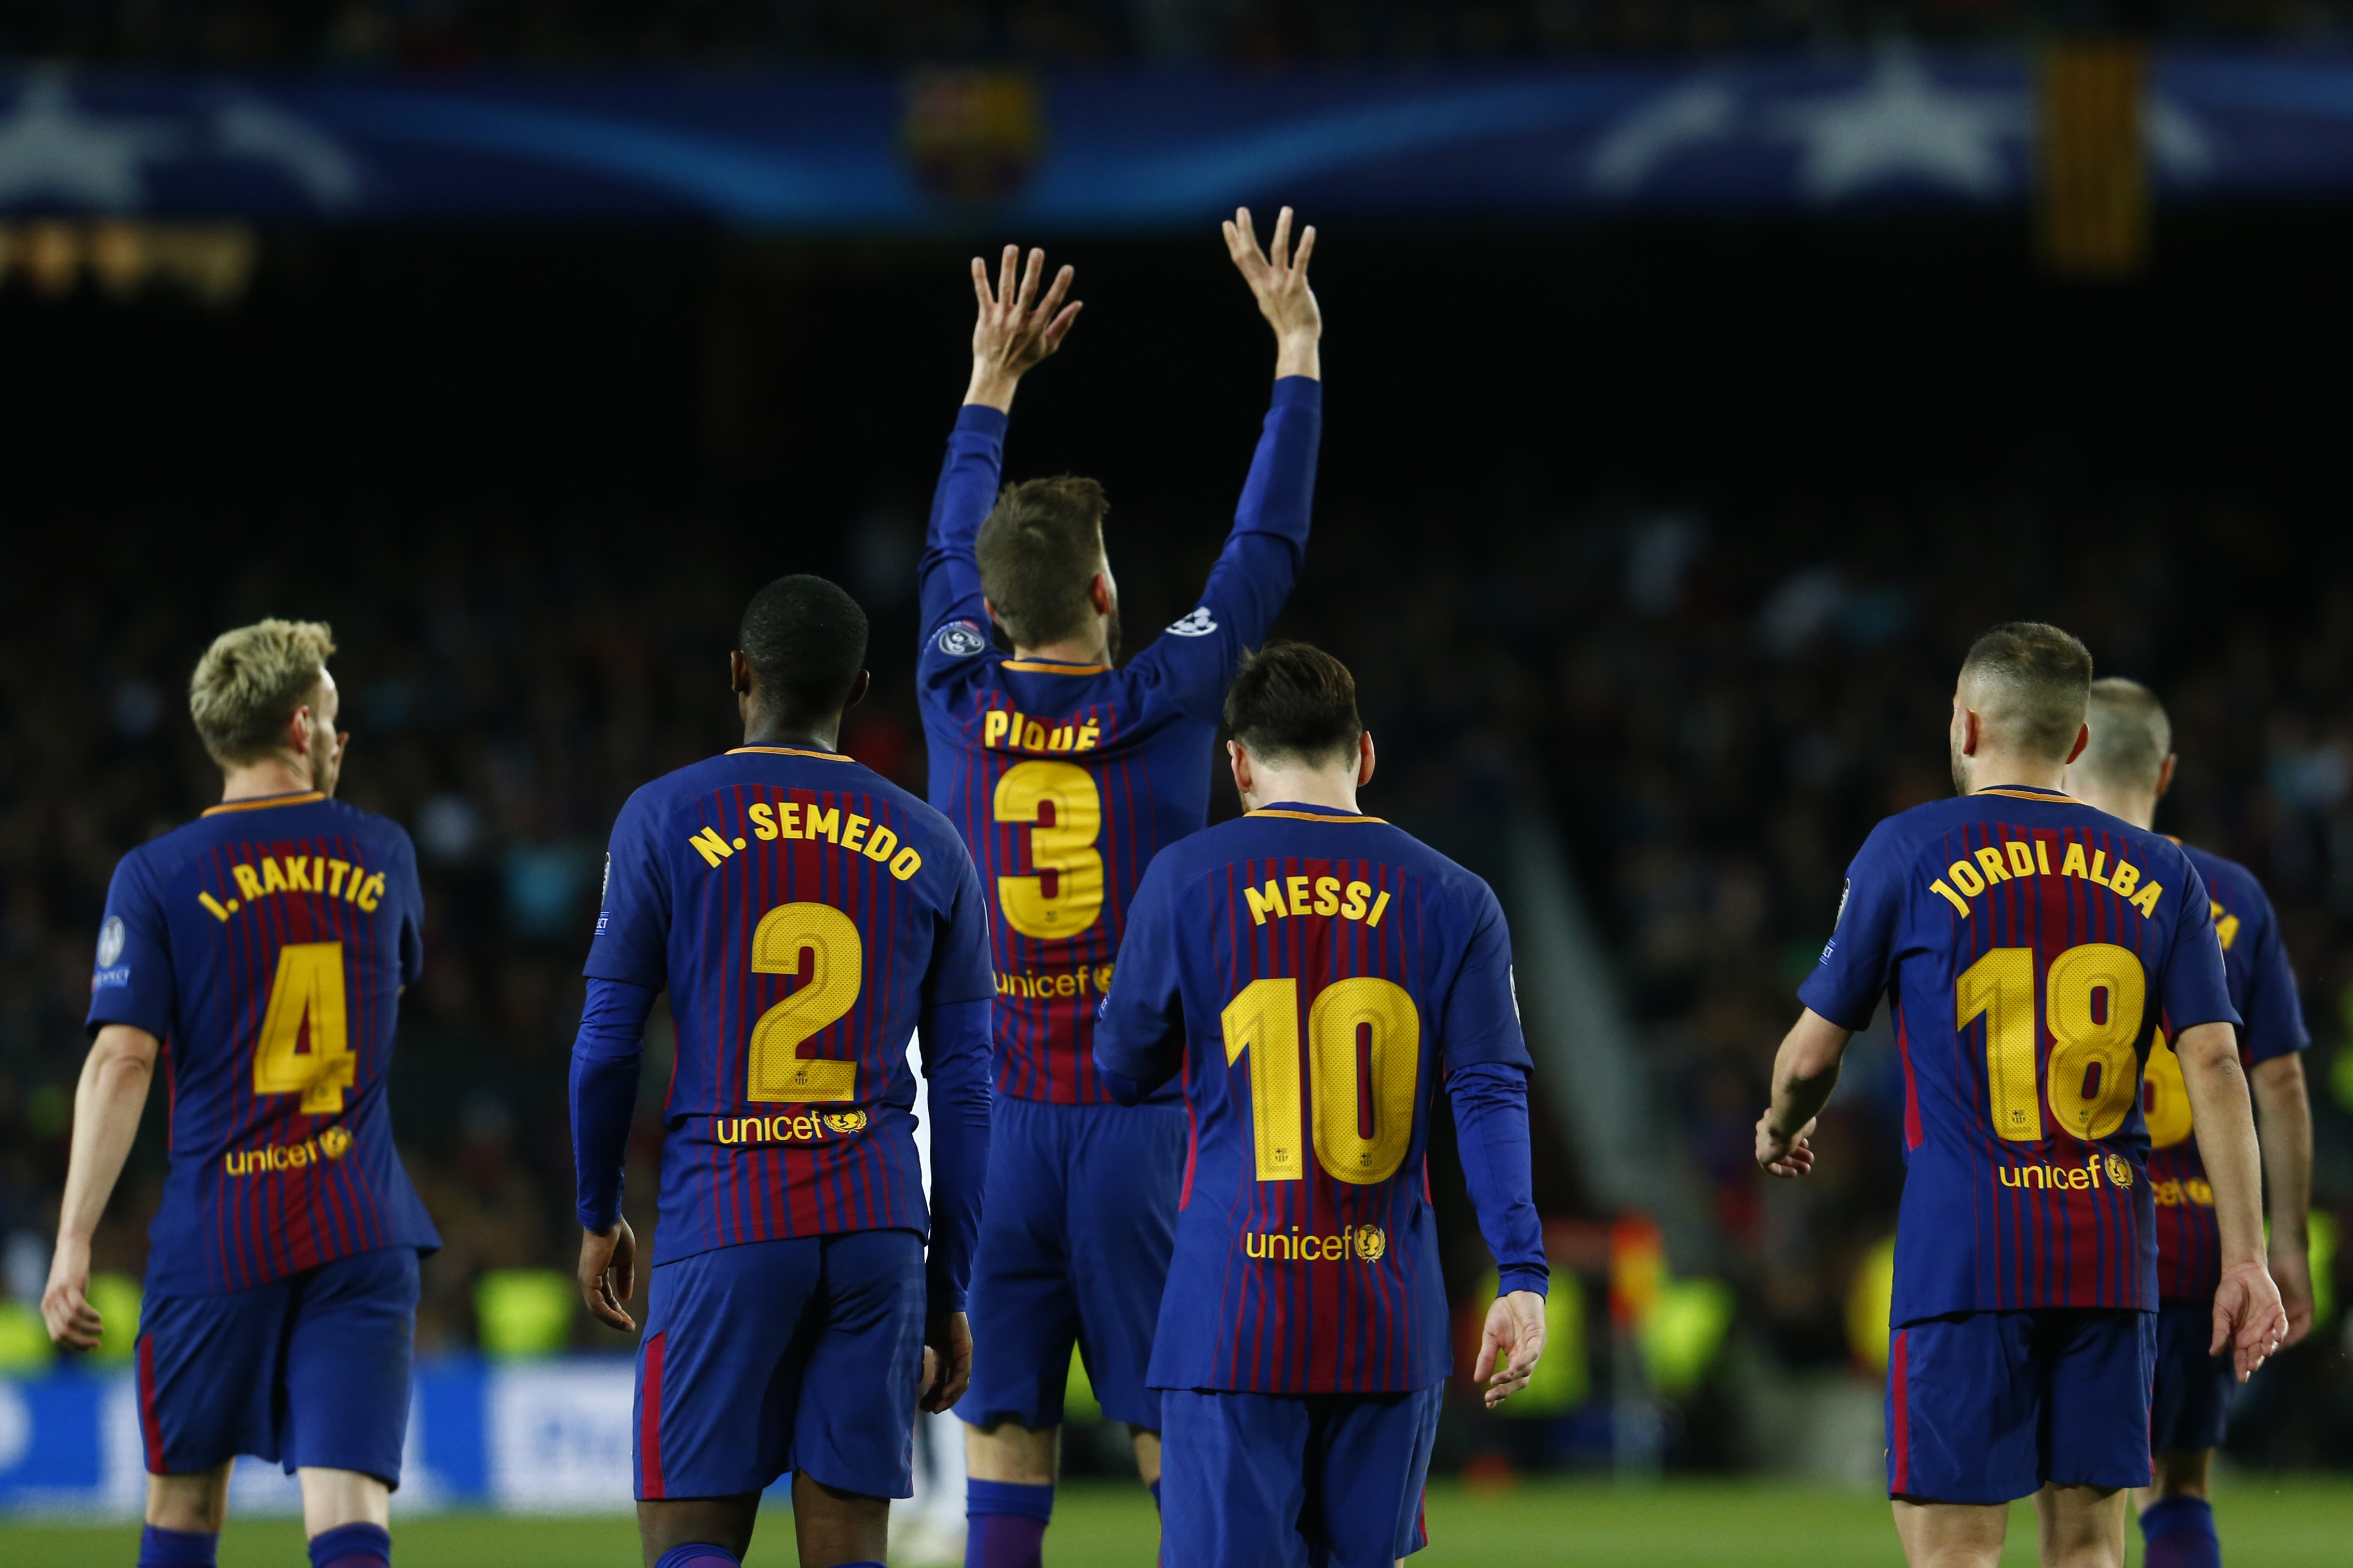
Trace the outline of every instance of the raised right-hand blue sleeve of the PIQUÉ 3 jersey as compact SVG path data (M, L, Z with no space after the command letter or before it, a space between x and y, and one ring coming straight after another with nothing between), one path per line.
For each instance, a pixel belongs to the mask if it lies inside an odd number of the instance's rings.
M1226 549L1209 567L1200 605L1139 655L1167 680L1179 711L1214 720L1242 652L1266 640L1299 582L1322 445L1322 381L1282 377L1249 459Z

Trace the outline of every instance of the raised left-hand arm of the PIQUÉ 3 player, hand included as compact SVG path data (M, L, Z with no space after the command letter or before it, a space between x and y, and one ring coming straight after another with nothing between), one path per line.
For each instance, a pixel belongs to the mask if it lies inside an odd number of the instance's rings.
M1061 268L1040 299L1045 252L1033 250L1028 271L1016 280L1019 261L1021 250L1007 245L998 266L998 287L991 290L988 266L979 257L972 259L972 292L979 299L979 320L972 327L972 381L965 386L965 405L955 414L948 457L939 469L939 487L932 492L932 523L925 532L918 577L925 652L929 652L939 629L955 619L967 619L981 629L984 638L988 636L988 614L981 607L981 565L972 553L972 542L981 532L988 509L998 501L1007 414L1021 377L1061 348L1061 339L1080 311L1075 299L1064 304L1075 278L1073 268Z

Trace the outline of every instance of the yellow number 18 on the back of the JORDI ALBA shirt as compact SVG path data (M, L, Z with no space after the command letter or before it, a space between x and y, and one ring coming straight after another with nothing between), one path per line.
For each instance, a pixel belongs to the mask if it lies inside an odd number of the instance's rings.
M2106 1017L2092 1017L2094 994L2106 994ZM2035 1095L2042 1057L2035 1029L2035 949L1995 946L1960 975L1953 996L1955 1026L1986 1019L1986 1095L1993 1130L2012 1142L2040 1142L2042 1107L2049 1104L2068 1132L2108 1137L2141 1092L2141 1010L2148 979L2141 961L2113 942L2085 942L2052 958L2042 977L2042 1008L2052 1050L2047 1088Z

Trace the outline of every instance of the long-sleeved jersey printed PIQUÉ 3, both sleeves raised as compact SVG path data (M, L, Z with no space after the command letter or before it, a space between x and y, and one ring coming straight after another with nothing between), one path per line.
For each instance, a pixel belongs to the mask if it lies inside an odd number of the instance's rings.
M995 504L1005 414L967 407L955 421L922 560L918 683L932 805L972 845L991 897L1000 1095L1111 1099L1094 1076L1094 1010L1144 866L1209 819L1226 685L1299 577L1320 391L1275 381L1200 605L1118 669L991 645L972 544Z

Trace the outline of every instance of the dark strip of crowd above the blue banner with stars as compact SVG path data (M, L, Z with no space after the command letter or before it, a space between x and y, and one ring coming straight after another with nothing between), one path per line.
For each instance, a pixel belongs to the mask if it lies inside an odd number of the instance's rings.
M2078 7L2181 38L2334 38L2346 0ZM9 0L0 54L424 71L576 64L1362 64L2024 38L2026 0Z

